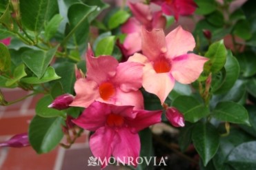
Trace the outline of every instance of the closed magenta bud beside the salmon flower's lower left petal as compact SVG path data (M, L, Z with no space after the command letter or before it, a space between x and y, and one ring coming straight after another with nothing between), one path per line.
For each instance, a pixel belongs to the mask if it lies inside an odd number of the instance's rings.
M48 107L53 109L58 109L58 110L68 109L68 107L70 107L69 106L70 103L72 103L74 98L75 97L72 96L71 94L63 94L61 96L57 96L57 98L55 98L52 104L48 105Z

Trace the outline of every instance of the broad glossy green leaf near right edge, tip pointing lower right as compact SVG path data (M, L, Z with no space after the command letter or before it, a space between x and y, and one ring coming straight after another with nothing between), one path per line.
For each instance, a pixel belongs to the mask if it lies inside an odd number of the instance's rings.
M247 110L235 102L226 101L218 103L213 110L213 116L221 121L250 126Z

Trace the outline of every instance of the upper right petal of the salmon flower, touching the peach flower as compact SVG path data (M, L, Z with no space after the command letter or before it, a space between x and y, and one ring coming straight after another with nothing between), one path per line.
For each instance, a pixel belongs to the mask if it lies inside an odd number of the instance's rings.
M143 67L141 63L119 63L112 83L118 85L124 92L137 91L142 86Z

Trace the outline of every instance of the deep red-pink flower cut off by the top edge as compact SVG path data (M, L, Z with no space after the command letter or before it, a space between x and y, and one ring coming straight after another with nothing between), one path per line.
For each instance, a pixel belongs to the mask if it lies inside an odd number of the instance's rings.
M197 3L193 0L152 0L161 6L161 10L167 15L173 15L178 21L179 15L187 16L193 14L197 8Z

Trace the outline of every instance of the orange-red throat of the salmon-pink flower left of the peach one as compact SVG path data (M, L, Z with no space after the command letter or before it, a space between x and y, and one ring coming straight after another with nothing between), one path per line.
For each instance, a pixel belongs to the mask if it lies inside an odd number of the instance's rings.
M99 95L103 100L108 100L113 94L115 94L115 87L112 83L105 82L99 85Z

